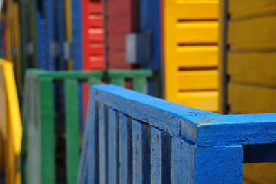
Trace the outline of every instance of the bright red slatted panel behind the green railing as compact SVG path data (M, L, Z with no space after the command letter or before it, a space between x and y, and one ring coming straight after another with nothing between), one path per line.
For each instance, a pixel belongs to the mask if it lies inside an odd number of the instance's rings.
M101 0L81 0L83 33L83 69L103 70L103 6ZM83 86L83 116L88 107L88 84Z

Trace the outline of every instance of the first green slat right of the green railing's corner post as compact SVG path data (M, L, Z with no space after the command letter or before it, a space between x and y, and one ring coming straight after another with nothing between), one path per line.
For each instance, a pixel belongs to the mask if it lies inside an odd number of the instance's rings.
M76 183L79 164L79 98L77 80L65 80L65 100L66 174L68 183Z

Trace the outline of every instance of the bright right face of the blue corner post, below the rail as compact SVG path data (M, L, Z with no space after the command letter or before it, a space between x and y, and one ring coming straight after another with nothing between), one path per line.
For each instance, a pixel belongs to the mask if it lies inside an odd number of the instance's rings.
M239 146L194 146L194 183L242 183L243 153Z

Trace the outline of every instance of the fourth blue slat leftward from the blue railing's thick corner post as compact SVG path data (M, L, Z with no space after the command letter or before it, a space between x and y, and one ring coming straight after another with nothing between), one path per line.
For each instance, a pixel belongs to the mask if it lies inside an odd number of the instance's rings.
M109 165L108 181L109 183L119 183L119 114L109 108L108 110L108 147L109 147Z

